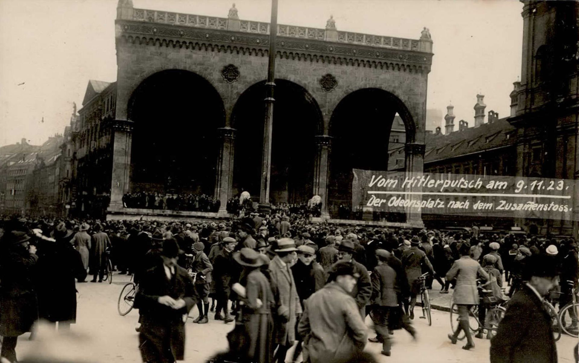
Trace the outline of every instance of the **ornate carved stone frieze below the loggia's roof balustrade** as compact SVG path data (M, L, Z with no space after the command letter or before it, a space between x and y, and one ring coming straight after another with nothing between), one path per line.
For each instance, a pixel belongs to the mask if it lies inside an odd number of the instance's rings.
M147 24L137 21L117 20L122 29L121 36L131 42L158 43L159 45L173 45L179 47L206 47L211 50L221 47L243 53L266 55L269 49L269 36L256 32L233 32L222 29L179 27L178 25ZM394 46L400 46L401 39L392 38ZM409 40L411 49L417 47L414 40ZM348 43L327 42L314 38L292 38L278 36L277 53L284 58L296 57L301 60L321 60L331 57L339 60L340 64L356 64L366 66L368 62L380 62L380 66L397 64L400 69L419 67L430 71L432 54L412 50L384 49L372 45L357 45ZM347 57L347 58L346 58ZM328 58L329 59L329 58Z

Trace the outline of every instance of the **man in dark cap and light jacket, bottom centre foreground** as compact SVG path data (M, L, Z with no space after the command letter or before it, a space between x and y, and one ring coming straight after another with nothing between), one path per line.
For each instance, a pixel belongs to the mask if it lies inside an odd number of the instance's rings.
M367 328L357 313L358 303L351 296L359 277L355 264L336 262L328 283L305 301L298 324L298 334L304 342L304 362L356 361L357 355L364 350Z

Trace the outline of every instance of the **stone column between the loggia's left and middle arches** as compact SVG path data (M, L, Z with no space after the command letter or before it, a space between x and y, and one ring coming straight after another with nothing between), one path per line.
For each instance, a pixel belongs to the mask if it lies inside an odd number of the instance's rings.
M221 139L221 150L219 150L219 159L217 161L217 179L215 180L215 198L219 199L218 214L225 216L227 214L227 201L232 197L233 183L233 154L236 129L230 127L218 128L219 139Z

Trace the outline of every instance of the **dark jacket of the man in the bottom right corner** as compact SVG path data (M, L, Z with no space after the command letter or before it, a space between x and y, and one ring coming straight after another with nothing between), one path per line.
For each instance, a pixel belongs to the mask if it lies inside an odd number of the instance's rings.
M508 302L507 313L490 341L491 363L556 363L551 317L526 285Z

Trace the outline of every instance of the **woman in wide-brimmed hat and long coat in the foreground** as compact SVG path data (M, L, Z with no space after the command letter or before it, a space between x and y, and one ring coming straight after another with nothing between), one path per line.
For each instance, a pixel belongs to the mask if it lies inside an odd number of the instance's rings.
M245 296L239 295L243 305L240 305L236 327L228 336L230 348L241 362L269 363L273 361L274 300L261 269L267 257L243 248L234 253L233 258L244 268L240 284L245 287Z

